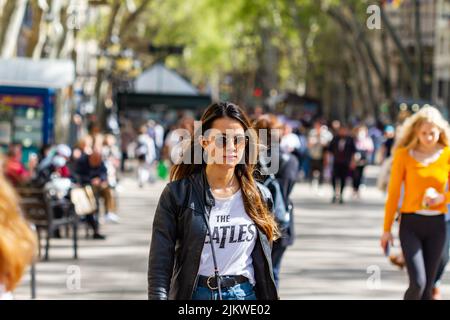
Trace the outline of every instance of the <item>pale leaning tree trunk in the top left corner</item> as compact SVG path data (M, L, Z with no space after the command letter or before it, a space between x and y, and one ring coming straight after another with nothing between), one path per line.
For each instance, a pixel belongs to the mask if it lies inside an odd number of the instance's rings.
M4 59L11 58L16 53L17 41L19 40L20 29L22 27L27 3L28 0L16 0L11 20L9 21L9 24L7 24L5 30L6 34L1 52L1 57Z

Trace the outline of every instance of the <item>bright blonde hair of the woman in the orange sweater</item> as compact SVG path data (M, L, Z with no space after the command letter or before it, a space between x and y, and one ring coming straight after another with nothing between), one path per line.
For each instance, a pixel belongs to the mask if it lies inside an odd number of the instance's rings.
M425 123L431 123L439 129L438 143L449 146L450 126L438 109L429 106L423 107L405 120L401 126L399 137L394 148L415 148L419 143L417 131Z

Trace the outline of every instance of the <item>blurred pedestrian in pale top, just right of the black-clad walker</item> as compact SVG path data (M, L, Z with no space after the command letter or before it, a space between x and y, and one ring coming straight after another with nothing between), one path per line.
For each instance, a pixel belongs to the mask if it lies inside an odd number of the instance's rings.
M354 156L355 168L352 174L353 196L359 198L359 188L364 183L364 168L372 157L374 145L366 126L359 126L354 132L356 152Z

